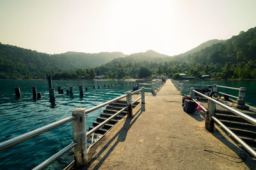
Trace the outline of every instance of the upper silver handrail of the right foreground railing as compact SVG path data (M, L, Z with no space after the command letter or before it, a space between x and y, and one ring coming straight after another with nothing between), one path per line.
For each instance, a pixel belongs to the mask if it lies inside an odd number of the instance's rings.
M227 105L225 105L223 103L220 103L219 101L216 101L216 100L212 99L211 97L205 96L204 94L202 94L200 92L197 92L196 90L193 90L193 92L195 92L196 94L199 94L202 97L205 97L206 99L208 99L210 101L213 101L214 103L218 104L222 108L225 108L228 111L231 111L232 113L236 114L237 116L239 116L241 118L244 118L248 122L251 122L252 124L256 125L256 119L255 118L252 118L252 117L242 113L241 111L234 110L233 108L230 108L229 106L227 106Z

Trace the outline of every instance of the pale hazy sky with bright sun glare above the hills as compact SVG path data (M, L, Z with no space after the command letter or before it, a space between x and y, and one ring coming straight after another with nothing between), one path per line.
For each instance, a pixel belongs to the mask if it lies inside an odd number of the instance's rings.
M38 52L177 55L256 26L256 0L0 0L0 42Z

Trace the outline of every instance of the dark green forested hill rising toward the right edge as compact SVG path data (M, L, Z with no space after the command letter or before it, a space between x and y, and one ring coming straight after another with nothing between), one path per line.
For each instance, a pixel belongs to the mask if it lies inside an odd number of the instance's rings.
M193 54L184 56L186 62L220 63L249 62L256 60L256 27L239 35L232 36L221 43L216 43Z

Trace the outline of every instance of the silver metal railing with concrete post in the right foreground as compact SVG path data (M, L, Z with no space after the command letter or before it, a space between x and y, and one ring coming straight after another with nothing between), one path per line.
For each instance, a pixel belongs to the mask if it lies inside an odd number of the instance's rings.
M195 93L208 99L208 110L205 109L203 106L201 106L197 101L195 101L194 96ZM196 104L198 104L198 106L200 106L200 108L202 108L202 110L204 110L205 112L205 129L207 129L208 131L213 131L214 129L214 122L216 122L218 125L220 125L220 127L222 127L224 129L224 131L226 131L228 134L230 134L230 136L232 136L232 138L234 138L237 143L239 143L241 146L243 146L243 148L250 153L253 157L256 158L256 152L255 150L253 150L253 148L251 148L249 145L247 145L241 138L239 138L236 134L234 134L234 132L232 132L230 129L228 129L227 126L225 126L224 124L222 124L220 122L220 120L218 120L216 117L214 117L215 114L215 110L216 110L216 104L218 106L221 106L222 108L225 108L228 111L231 111L232 113L236 114L237 116L244 118L244 120L247 120L248 122L252 123L253 125L256 125L256 119L252 118L240 111L235 110L234 108L230 108L229 106L220 103L219 101L216 101L214 99L212 99L211 97L205 96L204 94L197 92L196 90L194 90L193 88L191 88L190 90L190 96L192 97L193 101L196 102Z

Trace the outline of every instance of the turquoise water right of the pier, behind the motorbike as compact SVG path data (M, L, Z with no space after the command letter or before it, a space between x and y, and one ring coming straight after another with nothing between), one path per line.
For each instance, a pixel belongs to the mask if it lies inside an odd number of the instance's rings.
M182 81L184 84L188 85L223 85L227 87L246 87L246 95L245 95L245 101L246 104L249 104L251 106L256 107L256 81ZM195 87L196 88L196 87ZM189 87L186 87L186 90L188 90ZM221 87L218 87L217 89L219 92L223 92L225 94L231 94L232 96L237 96L239 94L239 90L230 90L230 89L224 89ZM186 94L189 94L189 92L186 92ZM232 97L231 97L232 98ZM235 99L235 98L232 98Z

